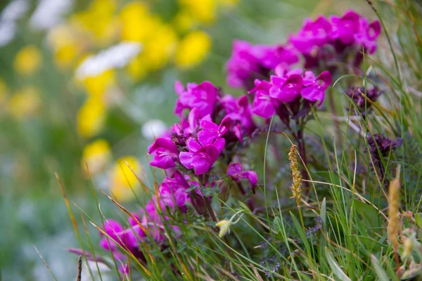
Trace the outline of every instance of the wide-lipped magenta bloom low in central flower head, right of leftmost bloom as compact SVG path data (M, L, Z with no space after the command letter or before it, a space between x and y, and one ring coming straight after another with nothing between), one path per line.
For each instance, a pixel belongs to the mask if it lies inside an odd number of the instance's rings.
M180 162L196 175L206 174L217 161L219 152L213 145L205 145L196 152L180 152Z

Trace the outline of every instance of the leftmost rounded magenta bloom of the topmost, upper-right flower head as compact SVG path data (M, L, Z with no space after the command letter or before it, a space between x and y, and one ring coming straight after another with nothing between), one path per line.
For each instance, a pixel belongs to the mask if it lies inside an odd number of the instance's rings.
M289 41L302 54L309 54L312 50L328 44L328 36L331 32L331 22L323 15L316 20L306 19L302 29L295 35L290 35Z

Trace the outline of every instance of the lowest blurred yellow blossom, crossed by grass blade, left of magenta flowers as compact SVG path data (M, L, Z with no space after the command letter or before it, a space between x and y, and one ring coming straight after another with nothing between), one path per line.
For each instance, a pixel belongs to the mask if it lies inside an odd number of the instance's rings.
M129 164L139 178L141 178L143 173L141 163L135 157L125 156L117 160L110 173L110 191L117 200L121 201L131 200L134 197L132 190L136 192L139 188L136 176L126 163Z

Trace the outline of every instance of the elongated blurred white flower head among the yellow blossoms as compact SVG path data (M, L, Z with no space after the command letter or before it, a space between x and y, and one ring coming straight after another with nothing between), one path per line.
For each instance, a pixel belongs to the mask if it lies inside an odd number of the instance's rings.
M84 79L101 74L106 70L124 67L132 58L141 53L141 49L140 43L131 41L111 46L86 58L77 68L76 76L79 79Z

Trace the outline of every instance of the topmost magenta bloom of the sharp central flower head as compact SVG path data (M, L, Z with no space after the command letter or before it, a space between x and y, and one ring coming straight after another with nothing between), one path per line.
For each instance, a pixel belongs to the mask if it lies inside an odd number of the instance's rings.
M200 117L212 114L214 105L217 101L217 89L209 81L204 81L201 84L188 83L187 89L180 81L174 84L174 89L179 95L174 107L174 113L183 117L183 110L198 108Z

